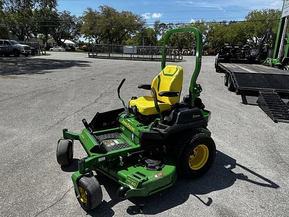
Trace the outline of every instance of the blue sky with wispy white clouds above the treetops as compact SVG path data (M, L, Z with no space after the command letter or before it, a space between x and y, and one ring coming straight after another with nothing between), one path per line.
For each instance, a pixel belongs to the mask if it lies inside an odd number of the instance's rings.
M97 9L100 5L108 5L118 11L131 11L139 14L153 24L155 20L189 23L194 20L205 21L244 20L250 10L281 9L282 0L167 0L167 1L93 1L93 0L59 0L59 11L70 11L81 16L90 7Z

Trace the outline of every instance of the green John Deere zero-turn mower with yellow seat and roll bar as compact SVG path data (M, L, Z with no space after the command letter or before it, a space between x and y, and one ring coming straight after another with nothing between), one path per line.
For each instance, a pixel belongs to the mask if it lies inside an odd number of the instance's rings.
M166 66L166 45L174 33L193 32L196 36L196 65L189 94L180 102L183 83L181 66ZM202 35L197 28L180 28L167 32L162 50L162 71L152 84L138 88L152 96L131 97L128 107L120 97L123 79L117 88L123 107L97 113L80 134L63 129L58 141L57 162L69 165L73 158L73 141L78 140L87 157L78 161L72 174L77 200L83 209L97 207L102 190L93 175L102 173L120 184L122 198L149 196L172 186L177 175L197 178L212 166L216 146L207 129L211 112L199 98L196 83L201 69Z

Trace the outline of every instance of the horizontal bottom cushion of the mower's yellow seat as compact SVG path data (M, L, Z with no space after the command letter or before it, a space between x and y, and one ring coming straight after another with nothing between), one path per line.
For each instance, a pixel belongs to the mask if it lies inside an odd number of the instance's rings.
M166 102L158 102L161 112L171 109L171 105ZM154 98L152 96L141 96L137 99L129 100L129 107L137 107L137 112L141 115L157 115Z

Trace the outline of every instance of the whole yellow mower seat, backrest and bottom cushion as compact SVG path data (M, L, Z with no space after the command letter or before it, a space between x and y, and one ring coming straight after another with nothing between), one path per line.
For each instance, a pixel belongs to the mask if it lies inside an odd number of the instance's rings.
M168 65L154 78L151 88L154 87L157 92L161 112L170 110L173 104L179 102L182 84L183 68L181 66ZM163 91L174 91L178 92L179 95L174 97L159 96L159 93ZM151 94L153 95L152 91ZM158 114L153 96L141 96L137 99L131 99L129 101L129 107L132 108L133 106L136 106L137 112L141 115Z

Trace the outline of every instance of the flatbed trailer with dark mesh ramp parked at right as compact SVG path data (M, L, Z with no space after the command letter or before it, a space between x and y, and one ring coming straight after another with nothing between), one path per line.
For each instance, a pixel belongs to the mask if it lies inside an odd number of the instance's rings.
M258 96L257 103L274 122L289 123L289 72L257 64L218 63L224 84L238 95Z

